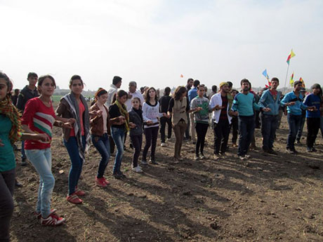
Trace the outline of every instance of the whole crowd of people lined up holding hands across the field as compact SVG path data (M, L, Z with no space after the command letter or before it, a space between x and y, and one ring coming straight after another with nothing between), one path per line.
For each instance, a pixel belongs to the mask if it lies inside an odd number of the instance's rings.
M121 90L122 79L114 76L109 88L99 88L94 102L88 105L81 94L84 82L81 76L70 79L70 93L61 98L54 111L51 101L56 83L53 76L27 76L28 85L21 91L13 90L9 77L0 72L0 241L9 240L9 224L13 213L15 184L15 143L21 141L21 165L32 163L39 174L39 191L35 217L42 225L57 226L65 222L58 211L51 208L55 177L51 171L51 139L53 126L62 128L63 142L70 156L67 201L82 203L86 192L79 187L79 177L91 143L101 158L95 184L107 187L105 170L110 156L116 149L112 175L124 179L121 171L126 137L133 149L131 168L142 173L143 167L157 164L155 156L158 133L161 146L165 147L175 135L173 159L183 161L183 142L195 145L195 161L200 159L225 159L232 130L232 147L237 147L237 158L250 159L249 149L254 146L254 130L261 123L263 152L277 155L274 150L276 130L282 113L286 112L289 135L286 152L297 154L295 143L301 142L301 132L306 120L308 152L316 152L315 139L319 128L323 135L322 89L314 84L308 95L301 81L294 82L294 90L282 95L277 90L279 79L272 78L270 87L253 92L247 79L240 81L241 90L232 88L232 82L212 86L211 93L199 80L188 79L186 86L178 86L171 95L171 88L159 90L128 83L128 90ZM261 121L259 121L261 120ZM167 126L167 128L166 128ZM205 154L204 145L209 127L213 129L213 154ZM239 139L238 139L239 134ZM143 135L145 142L143 144ZM238 143L237 143L238 140ZM142 149L143 147L143 149ZM149 152L150 151L150 152ZM150 156L148 156L148 153ZM141 154L141 159L139 159ZM209 157L207 157L209 155ZM149 157L149 159L147 159Z

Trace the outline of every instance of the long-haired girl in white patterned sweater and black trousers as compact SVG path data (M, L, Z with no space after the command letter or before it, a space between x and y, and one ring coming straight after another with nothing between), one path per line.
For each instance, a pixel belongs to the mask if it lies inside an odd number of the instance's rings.
M159 113L159 102L154 88L148 88L146 90L145 102L143 103L143 121L145 121L145 138L146 144L143 149L143 160L141 164L147 166L147 152L150 146L152 147L150 152L150 162L157 164L154 156L157 144L158 130L159 130L159 118L167 116L165 113Z

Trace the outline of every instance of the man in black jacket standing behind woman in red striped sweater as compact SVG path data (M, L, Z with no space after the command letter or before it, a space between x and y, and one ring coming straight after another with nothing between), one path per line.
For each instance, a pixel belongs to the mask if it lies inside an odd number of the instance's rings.
M17 107L23 113L25 110L25 105L29 99L39 97L39 93L36 88L36 83L38 81L38 76L34 72L29 72L27 76L29 85L23 88L18 95ZM27 165L27 157L25 154L25 142L21 142L21 166Z

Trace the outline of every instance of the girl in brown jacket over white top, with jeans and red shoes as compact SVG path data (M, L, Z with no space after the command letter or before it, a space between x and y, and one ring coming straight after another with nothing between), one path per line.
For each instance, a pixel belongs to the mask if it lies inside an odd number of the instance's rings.
M105 102L107 102L107 90L99 88L95 93L95 102L90 109L92 143L101 155L98 174L95 177L95 183L99 187L107 187L107 184L109 184L103 175L110 159L110 126L111 123L119 120L118 118L110 120L109 110L105 106Z

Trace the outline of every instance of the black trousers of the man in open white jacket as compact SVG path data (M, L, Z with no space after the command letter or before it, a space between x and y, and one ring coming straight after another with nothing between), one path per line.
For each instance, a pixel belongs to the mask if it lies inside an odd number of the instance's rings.
M214 154L225 153L230 134L230 123L228 119L219 119L214 123Z

